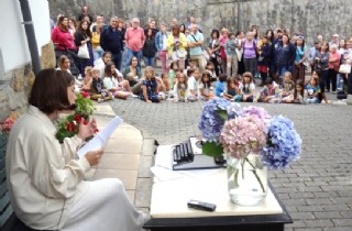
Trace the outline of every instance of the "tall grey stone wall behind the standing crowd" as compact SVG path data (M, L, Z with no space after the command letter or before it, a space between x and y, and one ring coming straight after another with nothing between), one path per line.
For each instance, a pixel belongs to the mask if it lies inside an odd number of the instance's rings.
M331 37L339 33L343 37L352 35L352 14L348 0L241 0L241 29L258 25L263 33L267 29L285 28L290 32L302 32L312 36L322 34ZM118 15L122 19L138 16L143 25L148 19L170 22L176 18L186 22L194 15L201 23L208 36L211 29L221 26L237 31L237 0L55 0L50 1L51 16L58 13L76 16L80 6L90 7L91 15L102 13L106 19Z

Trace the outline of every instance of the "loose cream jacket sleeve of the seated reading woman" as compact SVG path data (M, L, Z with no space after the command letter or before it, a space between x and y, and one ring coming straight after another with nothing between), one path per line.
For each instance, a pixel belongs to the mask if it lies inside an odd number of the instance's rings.
M84 179L85 172L90 168L87 158L67 160L65 163L65 156L73 154L64 155L55 136L41 133L35 141L29 145L30 150L26 152L32 155L29 158L29 174L32 183L47 197L69 198L74 196L76 185ZM68 150L76 147L72 146Z

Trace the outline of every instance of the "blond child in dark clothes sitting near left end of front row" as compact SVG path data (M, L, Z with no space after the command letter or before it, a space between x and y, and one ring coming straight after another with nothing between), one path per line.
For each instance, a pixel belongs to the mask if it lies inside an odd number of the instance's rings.
M112 99L112 95L107 90L103 85L102 79L100 78L100 72L98 68L91 69L92 80L90 85L90 99L102 102L106 100Z

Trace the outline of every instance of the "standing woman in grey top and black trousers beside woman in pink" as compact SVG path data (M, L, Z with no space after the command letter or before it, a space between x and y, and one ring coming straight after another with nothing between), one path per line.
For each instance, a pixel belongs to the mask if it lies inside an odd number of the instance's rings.
M327 41L321 43L320 51L316 51L315 55L315 70L319 75L319 86L321 91L321 98L324 100L324 102L328 102L326 97L326 81L328 79L329 75L329 59L330 59L330 53L329 53L329 43ZM322 100L320 99L320 101Z

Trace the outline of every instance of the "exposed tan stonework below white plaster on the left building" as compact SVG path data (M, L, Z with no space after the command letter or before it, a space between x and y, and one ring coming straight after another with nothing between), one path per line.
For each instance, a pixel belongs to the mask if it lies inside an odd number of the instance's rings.
M42 68L55 67L55 53L53 43L42 47ZM28 109L28 99L34 82L32 65L7 72L0 81L0 122L10 114L22 114Z

